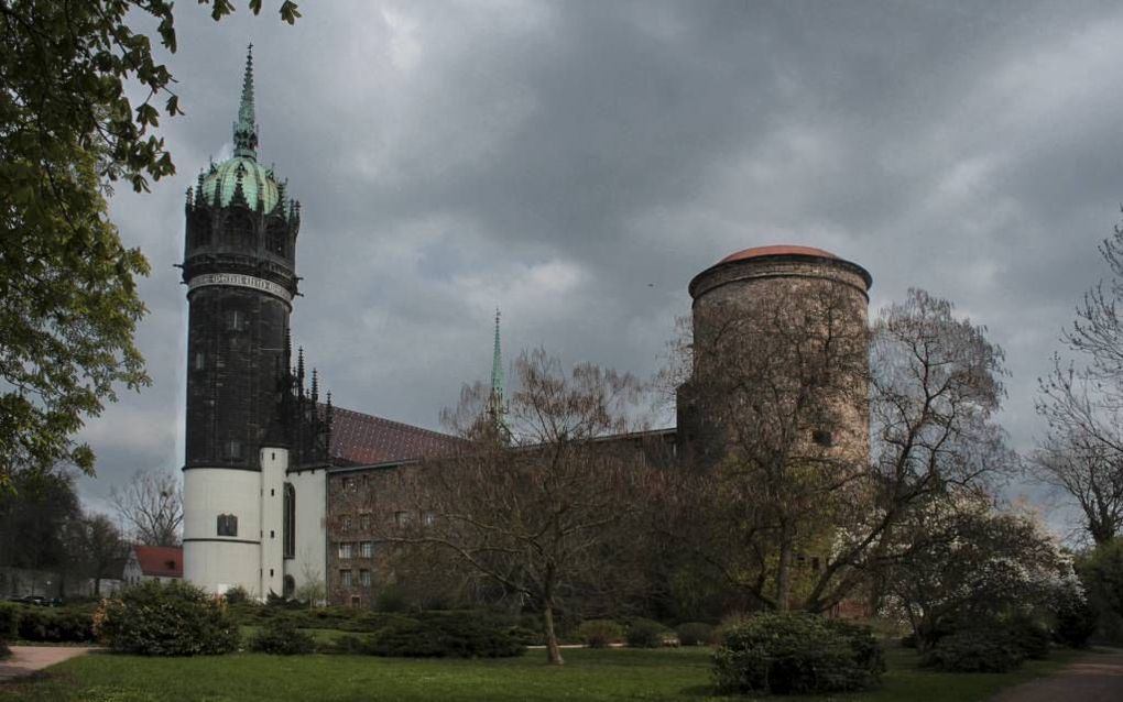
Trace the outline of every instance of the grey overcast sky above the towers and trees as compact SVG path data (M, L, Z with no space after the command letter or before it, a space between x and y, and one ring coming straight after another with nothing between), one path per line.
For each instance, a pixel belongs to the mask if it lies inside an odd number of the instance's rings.
M648 375L690 279L749 246L818 246L949 298L1007 353L1003 420L1032 446L1035 379L1123 200L1116 2L276 2L177 8L179 170L115 221L153 273L153 377L83 432L93 507L183 463L183 193L231 152L253 42L259 157L303 204L292 318L338 405L429 428L542 346ZM266 16L267 13L267 16Z

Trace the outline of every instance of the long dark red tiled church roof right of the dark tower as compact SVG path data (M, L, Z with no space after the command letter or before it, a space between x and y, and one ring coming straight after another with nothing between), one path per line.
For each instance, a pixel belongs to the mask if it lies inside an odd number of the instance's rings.
M335 408L331 419L331 459L339 465L368 465L448 456L462 439L401 422Z

